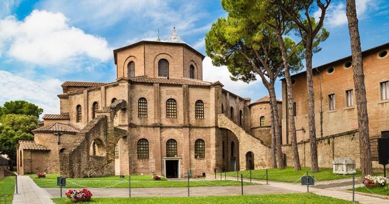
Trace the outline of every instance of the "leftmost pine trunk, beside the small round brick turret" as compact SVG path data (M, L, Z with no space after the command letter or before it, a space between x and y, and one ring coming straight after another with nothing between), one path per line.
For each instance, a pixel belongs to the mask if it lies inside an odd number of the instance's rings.
M278 167L280 169L285 169L284 155L282 153L282 138L281 138L282 132L281 132L281 128L280 128L280 118L278 115L278 105L277 105L276 91L274 89L274 80L272 80L272 79L270 79L270 83L269 83L269 98L270 98L271 107L273 107Z

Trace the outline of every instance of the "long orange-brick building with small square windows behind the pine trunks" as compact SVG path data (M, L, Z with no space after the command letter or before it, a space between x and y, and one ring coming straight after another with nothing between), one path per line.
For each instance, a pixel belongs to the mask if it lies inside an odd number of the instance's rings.
M377 160L376 137L389 136L389 43L362 53L373 167ZM320 167L331 168L336 157L352 157L360 166L358 115L355 101L352 57L348 56L313 70L315 122ZM301 164L310 166L306 73L292 76L294 114ZM286 81L282 79L282 100L287 101ZM288 166L293 153L288 135L288 103L282 106L283 152Z

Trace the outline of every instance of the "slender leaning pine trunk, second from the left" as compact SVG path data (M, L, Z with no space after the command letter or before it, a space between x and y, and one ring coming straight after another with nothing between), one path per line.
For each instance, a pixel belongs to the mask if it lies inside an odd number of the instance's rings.
M289 67L289 63L288 63L286 49L284 46L284 40L282 38L280 31L277 32L277 38L278 38L278 43L280 45L282 60L283 60L284 69L285 69L286 89L287 89L287 97L288 97L288 115L287 115L287 117L288 117L288 122L289 122L289 127L287 127L287 128L288 128L288 133L291 137L291 142L292 142L294 171L300 171L301 165L300 165L300 156L298 155L298 148L297 148L296 125L294 123L294 111L293 111L294 106L293 106L292 80L290 78L290 67Z

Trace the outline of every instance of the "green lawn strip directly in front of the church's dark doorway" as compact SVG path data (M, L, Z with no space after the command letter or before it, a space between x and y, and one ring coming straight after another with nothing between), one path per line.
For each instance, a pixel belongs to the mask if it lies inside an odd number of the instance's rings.
M46 178L37 178L36 175L29 175L32 180L42 188L58 188L57 186L57 177L59 175L48 174ZM115 185L116 184L116 185ZM244 182L244 185L255 185L254 183ZM229 180L199 180L191 179L189 186L235 186L241 185L241 182L238 181L229 181ZM97 178L83 178L83 179L66 179L67 188L101 188L110 186L112 188L128 188L129 182L128 177L121 179L119 176L107 176L107 177L97 177ZM165 178L162 178L159 181L154 181L151 178L151 175L133 175L131 176L131 187L132 188L155 188L155 187L187 187L187 180L179 181L168 181Z

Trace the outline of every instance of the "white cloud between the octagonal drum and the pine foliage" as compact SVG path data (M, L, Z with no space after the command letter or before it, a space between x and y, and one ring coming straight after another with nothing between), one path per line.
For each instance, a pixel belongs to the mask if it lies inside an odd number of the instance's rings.
M257 96L258 92L263 92L259 94L262 96L268 95L260 79L247 84L243 81L231 80L230 75L231 73L229 73L226 66L216 67L212 65L212 59L210 57L205 57L203 60L203 80L210 82L220 81L224 85L224 89L241 97Z

